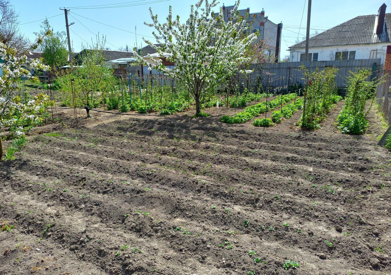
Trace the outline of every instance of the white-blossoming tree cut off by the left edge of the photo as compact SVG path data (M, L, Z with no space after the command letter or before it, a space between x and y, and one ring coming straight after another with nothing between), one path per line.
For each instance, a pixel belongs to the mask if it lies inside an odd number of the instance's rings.
M41 43L39 37L29 50L34 50ZM29 77L34 81L30 70L47 70L48 66L41 63L39 59L27 59L25 52L20 57L16 57L18 50L9 48L0 42L0 57L4 63L0 63L2 75L0 75L0 130L9 128L16 137L25 135L24 128L32 126L42 121L39 115L46 106L51 106L52 101L43 93L34 98L20 96L18 81L20 77ZM0 160L3 156L3 147L0 138Z

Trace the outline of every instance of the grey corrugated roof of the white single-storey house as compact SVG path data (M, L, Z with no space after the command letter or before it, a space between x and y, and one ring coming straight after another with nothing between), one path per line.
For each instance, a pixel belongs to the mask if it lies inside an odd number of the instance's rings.
M382 34L375 34L376 15L362 15L348 20L334 28L321 32L309 40L309 47L368 44L391 40L391 13L386 13ZM289 48L305 47L305 40Z

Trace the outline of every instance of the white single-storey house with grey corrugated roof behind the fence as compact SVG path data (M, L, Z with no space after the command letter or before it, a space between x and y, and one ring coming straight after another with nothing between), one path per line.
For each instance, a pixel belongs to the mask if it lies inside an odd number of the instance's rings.
M310 61L386 59L387 46L391 45L391 13L386 4L377 14L356 16L309 39ZM304 61L305 41L289 47L289 61ZM390 60L391 61L391 60Z

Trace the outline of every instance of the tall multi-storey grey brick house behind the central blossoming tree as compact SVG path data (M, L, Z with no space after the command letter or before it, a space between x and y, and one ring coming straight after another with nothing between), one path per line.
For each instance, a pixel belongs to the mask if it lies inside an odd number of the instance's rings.
M224 16L224 21L228 22L231 20L231 10L235 7L232 6L222 6L222 12ZM247 18L248 24L253 24L253 32L258 31L259 41L264 41L266 44L264 54L266 56L275 56L276 60L280 56L281 50L281 32L282 32L282 23L273 23L269 20L267 16L265 16L265 11L262 9L261 12L250 13L250 8L240 9L239 16L241 18ZM212 13L212 17L218 16L219 13Z

